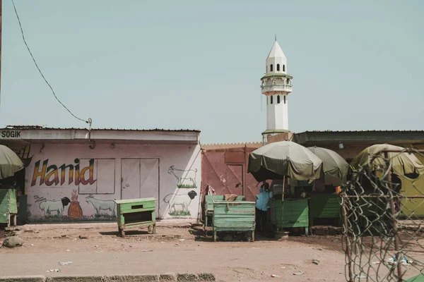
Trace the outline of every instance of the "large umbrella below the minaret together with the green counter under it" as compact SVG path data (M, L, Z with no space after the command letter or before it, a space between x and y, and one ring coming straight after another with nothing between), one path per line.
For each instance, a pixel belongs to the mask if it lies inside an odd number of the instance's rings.
M310 183L323 175L323 169L319 157L295 142L271 143L250 154L248 172L257 181L283 180L280 189L274 185L273 199L269 202L271 223L276 231L298 227L305 228L305 233L308 233L307 195L288 185L288 179Z

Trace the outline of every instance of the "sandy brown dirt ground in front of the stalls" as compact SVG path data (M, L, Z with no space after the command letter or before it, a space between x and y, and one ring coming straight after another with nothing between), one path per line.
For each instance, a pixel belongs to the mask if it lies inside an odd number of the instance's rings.
M25 243L0 248L1 276L211 272L218 281L345 281L339 236L214 243L211 238L198 240L184 221L158 223L157 235L149 235L146 229L129 231L126 238L118 236L116 223L18 229L15 233ZM61 273L47 272L50 269Z

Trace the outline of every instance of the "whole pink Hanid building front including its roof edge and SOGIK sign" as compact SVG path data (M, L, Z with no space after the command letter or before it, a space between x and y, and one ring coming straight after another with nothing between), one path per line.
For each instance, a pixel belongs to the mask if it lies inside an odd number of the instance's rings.
M158 200L160 219L197 216L198 130L4 128L0 132L0 141L25 161L23 194L29 222L114 220L114 200L143 197Z

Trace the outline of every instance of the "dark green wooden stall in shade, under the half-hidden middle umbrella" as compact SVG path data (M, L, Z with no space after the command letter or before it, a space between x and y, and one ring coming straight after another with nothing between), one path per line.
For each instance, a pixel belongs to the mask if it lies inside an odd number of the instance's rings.
M341 205L337 194L310 195L310 225L314 226L314 219L336 219L337 226L341 226Z

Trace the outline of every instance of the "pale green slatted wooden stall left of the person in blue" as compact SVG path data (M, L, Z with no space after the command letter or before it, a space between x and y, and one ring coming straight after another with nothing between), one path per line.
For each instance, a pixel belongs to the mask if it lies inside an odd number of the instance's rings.
M245 231L254 242L255 203L213 201L213 240L220 231Z

